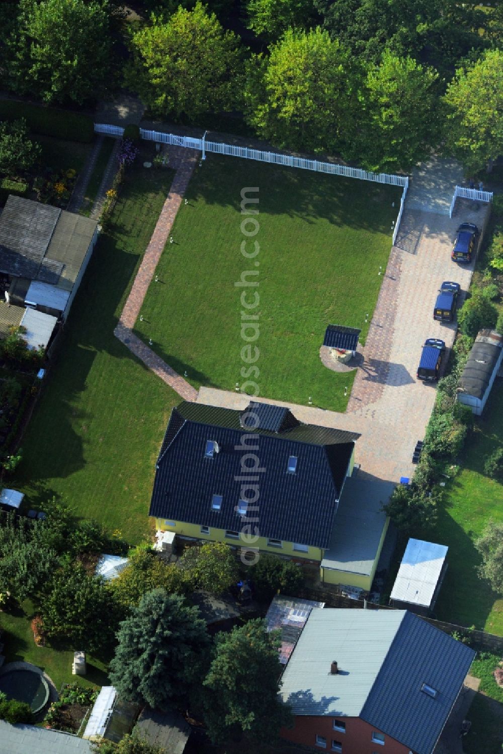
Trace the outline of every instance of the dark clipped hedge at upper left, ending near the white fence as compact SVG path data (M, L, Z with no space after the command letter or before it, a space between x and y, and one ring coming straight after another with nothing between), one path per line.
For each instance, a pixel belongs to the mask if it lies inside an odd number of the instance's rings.
M33 133L56 136L58 139L89 143L94 136L94 123L89 115L57 110L17 100L0 100L0 120L24 118Z

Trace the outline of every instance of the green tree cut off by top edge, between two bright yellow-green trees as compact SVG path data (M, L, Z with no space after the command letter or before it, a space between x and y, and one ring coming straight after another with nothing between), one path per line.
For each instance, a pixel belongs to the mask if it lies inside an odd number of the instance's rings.
M287 29L307 29L316 17L312 0L247 0L247 27L268 41Z

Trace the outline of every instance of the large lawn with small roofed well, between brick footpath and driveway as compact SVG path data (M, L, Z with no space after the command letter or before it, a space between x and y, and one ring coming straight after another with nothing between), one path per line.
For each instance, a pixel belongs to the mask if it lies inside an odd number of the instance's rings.
M259 187L259 215L241 215L241 190ZM260 395L344 411L355 372L322 365L329 323L360 327L364 342L391 250L401 189L308 170L208 155L197 168L143 305L136 332L199 388L243 385L240 296L259 292L259 348L250 379ZM395 206L391 204L394 202ZM247 238L241 221L254 218ZM253 232L249 222L245 229ZM253 252L254 259L241 254ZM244 271L259 271L255 288L235 287ZM369 319L370 319L369 317ZM247 329L245 336L253 336ZM246 354L245 354L246 355ZM252 351L252 357L256 355ZM348 388L348 397L344 388ZM250 388L249 391L253 391Z

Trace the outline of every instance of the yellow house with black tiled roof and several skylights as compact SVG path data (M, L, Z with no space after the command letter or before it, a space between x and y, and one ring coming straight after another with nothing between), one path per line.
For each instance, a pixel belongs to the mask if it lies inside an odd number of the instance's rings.
M358 437L267 403L242 412L181 403L159 453L150 515L158 531L226 542L247 562L268 552L321 566ZM370 575L329 565L321 569L328 583L370 588Z

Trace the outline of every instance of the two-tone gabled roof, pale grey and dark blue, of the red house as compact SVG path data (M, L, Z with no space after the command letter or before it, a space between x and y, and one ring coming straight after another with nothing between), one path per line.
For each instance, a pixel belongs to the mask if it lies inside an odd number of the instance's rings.
M474 656L405 610L315 608L281 695L295 715L360 717L416 754L431 754Z

